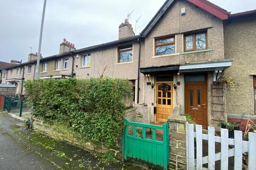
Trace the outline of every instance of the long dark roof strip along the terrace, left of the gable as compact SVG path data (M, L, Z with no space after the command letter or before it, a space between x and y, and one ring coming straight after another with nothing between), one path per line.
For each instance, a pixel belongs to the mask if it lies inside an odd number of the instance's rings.
M129 38L110 41L108 43L103 43L103 44L99 44L99 45L94 45L94 46L89 46L89 47L85 47L85 48L81 48L81 49L76 49L76 50L71 51L71 53L79 54L79 53L83 53L83 52L88 52L88 51L99 49L99 48L105 48L105 47L114 46L114 45L117 45L117 44L122 44L122 43L127 43L127 42L130 42L130 41L135 41L135 40L138 40L138 38L141 38L141 36L138 35L138 36L133 36L133 37L129 37ZM70 56L70 53L66 52L66 53L62 53L62 54L56 54L56 55L40 58L40 61L47 61L47 60L51 60L52 58L59 58L59 57L65 57L65 56ZM21 64L15 64L13 66L5 67L2 70L12 69L12 68L15 68L15 67L21 67L21 66L24 66L24 65L34 64L34 63L36 63L36 60L31 60L29 62L25 62L25 63L21 63Z

